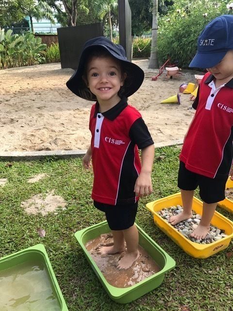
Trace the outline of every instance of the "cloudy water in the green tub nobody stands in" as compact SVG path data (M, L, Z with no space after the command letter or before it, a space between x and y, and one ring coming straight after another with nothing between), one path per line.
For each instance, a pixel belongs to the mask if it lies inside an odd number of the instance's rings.
M42 262L0 271L0 311L61 311Z

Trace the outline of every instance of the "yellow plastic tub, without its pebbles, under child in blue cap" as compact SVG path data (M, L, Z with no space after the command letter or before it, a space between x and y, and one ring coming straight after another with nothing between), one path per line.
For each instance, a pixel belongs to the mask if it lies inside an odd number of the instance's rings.
M233 238L233 222L222 216L220 213L215 212L211 224L217 226L219 229L224 229L228 236L210 244L195 243L185 238L183 234L181 234L177 229L156 213L165 207L176 205L182 206L180 192L150 202L147 204L147 208L153 214L155 225L157 225L169 238L171 238L172 241L179 245L185 253L195 258L208 258L228 247L231 239ZM202 215L202 202L196 197L193 199L193 210Z

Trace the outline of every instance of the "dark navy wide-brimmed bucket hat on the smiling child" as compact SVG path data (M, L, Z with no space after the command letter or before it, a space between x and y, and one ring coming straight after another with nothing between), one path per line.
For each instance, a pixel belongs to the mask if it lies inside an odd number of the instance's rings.
M121 96L131 96L141 86L144 80L144 71L140 67L126 59L125 50L121 45L114 44L111 40L105 37L96 37L86 41L83 46L83 51L81 53L79 67L67 81L67 87L75 95L82 97L83 99L89 101L97 100L96 96L90 91L89 93L91 94L91 96L87 96L86 92L84 92L84 90L87 89L87 86L83 81L83 73L87 56L90 52L94 51L95 48L98 47L103 48L112 57L116 58L118 61L121 62L122 69L127 74L124 83L124 86L126 87L123 86Z

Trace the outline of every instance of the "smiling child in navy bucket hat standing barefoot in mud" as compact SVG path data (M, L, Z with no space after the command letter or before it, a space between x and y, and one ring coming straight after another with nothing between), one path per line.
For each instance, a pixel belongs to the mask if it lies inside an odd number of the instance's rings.
M153 140L141 114L127 102L143 79L143 70L126 59L122 46L97 37L85 43L78 69L67 81L74 94L96 102L83 167L89 169L92 162L91 196L113 234L114 244L103 245L98 252L123 253L118 269L129 268L140 256L134 225L138 199L152 192Z

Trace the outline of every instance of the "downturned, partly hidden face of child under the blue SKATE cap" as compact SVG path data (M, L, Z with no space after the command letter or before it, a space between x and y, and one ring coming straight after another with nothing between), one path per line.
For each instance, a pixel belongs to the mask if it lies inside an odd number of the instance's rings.
M216 80L221 80L222 84L229 82L233 78L233 50L228 51L218 64L207 70Z

